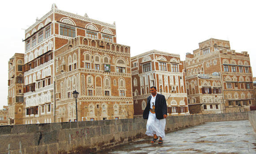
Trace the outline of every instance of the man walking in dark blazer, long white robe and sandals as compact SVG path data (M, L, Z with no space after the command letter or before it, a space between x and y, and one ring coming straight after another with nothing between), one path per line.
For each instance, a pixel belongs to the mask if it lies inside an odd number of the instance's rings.
M147 98L147 106L143 112L143 118L147 119L147 136L154 136L151 143L155 143L160 137L158 144L162 144L165 137L167 106L164 95L157 94L156 87L150 88L151 95Z

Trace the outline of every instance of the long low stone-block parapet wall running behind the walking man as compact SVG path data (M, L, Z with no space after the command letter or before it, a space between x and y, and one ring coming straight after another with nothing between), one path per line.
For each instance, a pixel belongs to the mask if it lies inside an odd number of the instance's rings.
M252 111L251 111L252 112ZM248 112L169 116L166 132L204 122L246 120ZM146 137L147 121L134 119L0 126L0 154L84 154Z

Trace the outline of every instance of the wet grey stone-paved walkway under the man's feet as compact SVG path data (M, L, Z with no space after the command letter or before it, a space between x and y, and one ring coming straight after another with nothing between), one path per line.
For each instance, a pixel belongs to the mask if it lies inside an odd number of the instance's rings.
M256 154L256 133L248 120L209 122L166 134L164 143L151 138L98 154Z

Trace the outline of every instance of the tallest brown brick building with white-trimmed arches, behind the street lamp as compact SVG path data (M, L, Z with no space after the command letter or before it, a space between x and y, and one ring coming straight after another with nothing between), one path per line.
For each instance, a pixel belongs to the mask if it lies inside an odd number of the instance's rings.
M116 44L115 24L53 4L25 36L23 123L74 121L74 89L79 121L133 117L130 48Z

